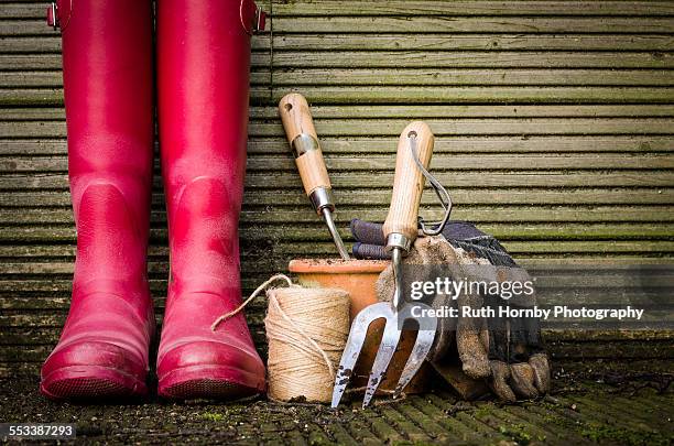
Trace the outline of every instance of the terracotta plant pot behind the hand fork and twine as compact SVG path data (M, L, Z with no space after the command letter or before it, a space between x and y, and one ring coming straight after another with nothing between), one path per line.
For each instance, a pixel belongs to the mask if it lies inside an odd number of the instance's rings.
M347 291L351 296L350 313L351 320L354 320L358 312L378 302L374 283L388 264L389 261L384 260L302 259L292 260L289 270L297 276L297 281L303 286L335 287ZM368 377L383 333L383 320L377 320L368 329L366 342L349 384L351 388L361 388L368 384ZM379 390L392 391L395 388L415 339L416 334L414 331L403 331L385 379L379 385ZM424 365L405 389L405 393L424 391L427 376L428 368L427 365Z

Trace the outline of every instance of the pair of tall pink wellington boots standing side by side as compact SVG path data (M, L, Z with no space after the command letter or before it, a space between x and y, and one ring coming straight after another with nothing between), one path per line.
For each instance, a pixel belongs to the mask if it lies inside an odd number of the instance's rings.
M42 368L42 392L148 393L154 91L171 259L159 394L263 392L264 365L243 315L210 328L241 302L250 35L263 15L252 0L159 0L155 53L151 0L61 0L47 15L63 37L77 257L70 311Z

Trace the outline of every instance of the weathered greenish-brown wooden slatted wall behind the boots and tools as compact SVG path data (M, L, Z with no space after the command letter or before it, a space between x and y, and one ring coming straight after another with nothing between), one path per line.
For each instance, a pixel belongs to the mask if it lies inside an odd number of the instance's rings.
M44 9L0 2L1 374L34 372L55 344L75 252L59 35ZM312 102L347 239L352 217L384 218L398 134L425 119L454 218L477 221L524 263L672 260L674 2L274 0L265 9L241 220L247 290L292 258L335 255L276 119L290 90ZM156 173L150 271L161 315L167 249ZM432 198L424 213L437 216ZM263 306L249 311L260 344ZM629 355L645 358L639 351Z

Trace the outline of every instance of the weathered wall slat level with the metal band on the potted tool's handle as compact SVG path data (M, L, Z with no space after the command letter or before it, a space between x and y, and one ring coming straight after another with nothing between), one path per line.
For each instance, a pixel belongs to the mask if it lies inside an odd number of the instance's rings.
M394 153L398 138L320 137L325 153ZM522 135L456 137L443 135L435 142L434 153L584 153L629 152L666 153L674 151L672 135ZM2 140L0 155L58 155L66 154L66 141L61 140ZM281 138L251 139L249 154L287 154L287 140ZM437 159L437 156L436 156Z

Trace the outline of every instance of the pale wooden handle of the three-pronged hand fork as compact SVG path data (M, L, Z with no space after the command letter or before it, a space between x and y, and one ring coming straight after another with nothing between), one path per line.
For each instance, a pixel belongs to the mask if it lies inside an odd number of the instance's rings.
M431 128L422 121L415 121L405 127L398 141L393 197L383 226L387 238L390 233L401 233L410 241L416 239L418 205L424 191L425 177L414 162L410 150L410 139L413 137L418 161L424 167L428 167L433 154L435 138Z

